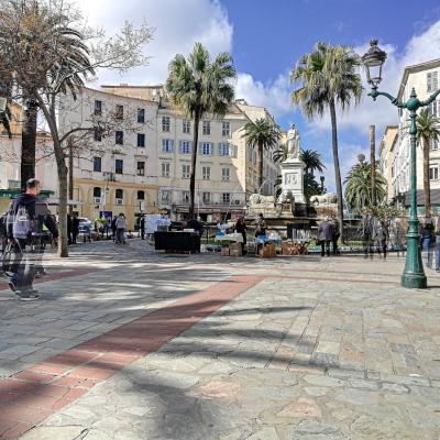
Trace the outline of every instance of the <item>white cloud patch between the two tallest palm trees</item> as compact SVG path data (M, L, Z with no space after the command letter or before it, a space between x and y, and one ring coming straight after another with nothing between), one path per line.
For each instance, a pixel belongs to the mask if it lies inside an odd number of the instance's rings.
M279 75L274 81L263 84L250 74L239 74L235 86L237 98L250 105L265 107L272 114L292 112L289 75Z

